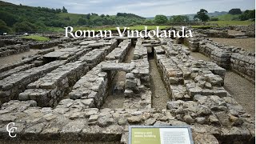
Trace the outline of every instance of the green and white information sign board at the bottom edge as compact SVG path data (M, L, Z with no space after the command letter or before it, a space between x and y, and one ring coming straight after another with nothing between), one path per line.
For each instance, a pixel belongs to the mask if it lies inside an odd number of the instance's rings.
M189 126L129 126L129 144L194 144Z

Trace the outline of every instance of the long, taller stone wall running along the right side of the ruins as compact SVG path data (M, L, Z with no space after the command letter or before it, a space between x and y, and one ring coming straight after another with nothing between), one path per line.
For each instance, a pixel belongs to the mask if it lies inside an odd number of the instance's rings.
M197 35L195 35L195 37L197 37ZM186 42L194 42L193 38L185 39ZM211 61L218 64L218 66L226 70L234 70L234 72L247 78L250 82L254 82L255 53L234 46L218 44L206 38L197 37L195 39L199 41L198 46L189 45L190 50L198 51L209 57Z

